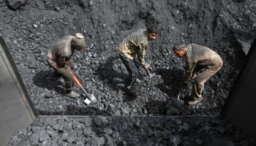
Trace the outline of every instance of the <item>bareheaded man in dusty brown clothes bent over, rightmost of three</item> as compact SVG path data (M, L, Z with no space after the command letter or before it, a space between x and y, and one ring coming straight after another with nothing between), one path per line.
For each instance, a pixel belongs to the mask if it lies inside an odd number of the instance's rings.
M173 52L179 58L184 57L186 62L185 73L179 90L184 91L187 82L195 80L192 86L191 100L188 103L195 105L203 99L202 92L206 80L222 68L222 58L214 50L195 44L177 43L173 47ZM195 74L201 69L204 69L204 71Z

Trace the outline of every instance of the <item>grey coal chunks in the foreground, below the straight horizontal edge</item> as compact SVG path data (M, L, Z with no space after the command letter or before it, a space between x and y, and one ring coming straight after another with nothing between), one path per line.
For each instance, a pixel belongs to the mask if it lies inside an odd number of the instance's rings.
M37 119L10 145L256 145L227 120L210 117L102 117ZM230 146L231 146L230 145Z

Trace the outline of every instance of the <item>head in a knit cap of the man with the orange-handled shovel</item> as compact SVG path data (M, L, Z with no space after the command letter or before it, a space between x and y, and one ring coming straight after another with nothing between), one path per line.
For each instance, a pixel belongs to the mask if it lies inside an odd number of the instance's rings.
M86 40L83 38L83 34L75 34L71 41L71 45L75 50L83 50L83 47L86 47Z

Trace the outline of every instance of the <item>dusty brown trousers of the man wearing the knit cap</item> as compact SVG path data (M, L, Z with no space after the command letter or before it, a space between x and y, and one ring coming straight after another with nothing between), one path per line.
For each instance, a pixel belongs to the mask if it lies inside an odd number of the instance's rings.
M69 66L70 69L74 69L75 65L73 64L73 61L69 59ZM48 63L49 64L49 63ZM49 64L50 66L50 64ZM53 66L51 66L53 68ZM57 66L57 68L53 68L57 73L61 74L61 76L64 78L65 84L66 84L66 92L69 93L74 88L74 76L69 72L69 69L66 69L64 67Z

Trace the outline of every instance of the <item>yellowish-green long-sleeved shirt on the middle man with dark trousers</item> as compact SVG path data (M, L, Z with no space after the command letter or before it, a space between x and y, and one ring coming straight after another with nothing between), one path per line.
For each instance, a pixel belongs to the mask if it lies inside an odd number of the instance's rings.
M123 40L123 42L121 42L121 45L118 47L118 53L132 60L138 58L140 64L145 67L146 62L144 58L146 48L148 47L148 41L146 30L140 29L130 34Z

